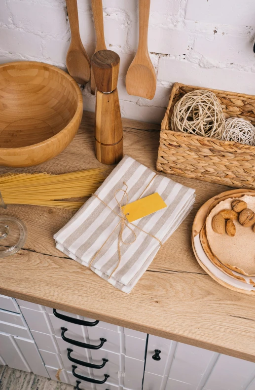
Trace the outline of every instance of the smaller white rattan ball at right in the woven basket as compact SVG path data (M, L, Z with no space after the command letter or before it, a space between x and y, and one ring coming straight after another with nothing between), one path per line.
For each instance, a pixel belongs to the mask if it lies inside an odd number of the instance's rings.
M228 118L222 135L224 141L235 141L240 144L255 146L255 127L243 118Z

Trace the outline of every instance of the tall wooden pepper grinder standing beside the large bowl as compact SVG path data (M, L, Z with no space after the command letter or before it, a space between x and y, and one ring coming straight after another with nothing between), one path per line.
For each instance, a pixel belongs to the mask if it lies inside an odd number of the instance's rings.
M117 91L120 58L111 50L99 50L91 58L97 87L95 150L103 164L123 157L123 129Z

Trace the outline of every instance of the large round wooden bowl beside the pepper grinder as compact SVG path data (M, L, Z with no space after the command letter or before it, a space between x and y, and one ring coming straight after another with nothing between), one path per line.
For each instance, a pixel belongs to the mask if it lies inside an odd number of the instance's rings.
M0 65L0 165L41 164L73 140L82 117L80 88L41 62Z

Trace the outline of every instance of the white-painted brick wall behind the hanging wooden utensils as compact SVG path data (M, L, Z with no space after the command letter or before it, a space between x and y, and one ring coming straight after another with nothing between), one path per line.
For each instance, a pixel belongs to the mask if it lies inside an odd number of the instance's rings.
M160 122L175 81L255 94L255 0L151 0L148 49L157 73L153 100L129 96L125 75L138 44L139 0L103 0L107 47L120 55L122 115ZM78 0L82 42L91 56L90 0ZM66 69L65 0L0 0L0 63L44 61ZM84 109L94 111L89 85Z

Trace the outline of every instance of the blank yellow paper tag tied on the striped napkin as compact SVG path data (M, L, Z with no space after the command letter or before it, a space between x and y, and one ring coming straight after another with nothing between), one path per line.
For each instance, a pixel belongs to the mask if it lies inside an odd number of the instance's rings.
M155 213L166 206L162 197L158 193L155 193L126 204L126 206L122 206L122 210L124 211L128 222L133 222L137 219L146 217L146 215Z

